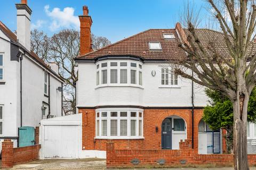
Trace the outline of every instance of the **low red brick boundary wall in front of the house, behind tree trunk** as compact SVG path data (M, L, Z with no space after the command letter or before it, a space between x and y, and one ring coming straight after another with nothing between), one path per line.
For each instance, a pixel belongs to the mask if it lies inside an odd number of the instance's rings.
M249 165L256 165L256 155L248 155ZM120 150L114 142L107 142L107 168L118 167L187 167L232 166L233 155L199 155L191 149L191 141L180 142L180 150Z

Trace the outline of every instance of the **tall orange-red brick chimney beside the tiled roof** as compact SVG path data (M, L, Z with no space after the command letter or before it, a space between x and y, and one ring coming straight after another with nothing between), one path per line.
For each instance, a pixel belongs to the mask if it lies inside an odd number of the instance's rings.
M83 6L83 15L79 16L80 20L80 55L92 52L91 25L92 19L88 15L87 6Z

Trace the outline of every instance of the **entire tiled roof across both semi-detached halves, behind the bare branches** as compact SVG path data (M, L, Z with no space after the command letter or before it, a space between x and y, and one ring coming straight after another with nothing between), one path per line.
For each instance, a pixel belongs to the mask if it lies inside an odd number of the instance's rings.
M188 35L188 30L183 30L186 35ZM173 33L175 39L164 39L164 33ZM230 58L223 33L210 29L196 29L196 35L205 47L207 53L210 55L213 54L211 50L209 50L209 45L214 44L215 50L217 50L221 56ZM183 50L178 47L179 40L175 29L150 29L104 48L95 50L94 52L78 56L78 60L83 58L93 59L101 56L118 55L133 55L144 58L145 60L183 60L186 55ZM161 43L162 50L150 50L148 44L150 41ZM256 48L253 49L253 52L256 52Z

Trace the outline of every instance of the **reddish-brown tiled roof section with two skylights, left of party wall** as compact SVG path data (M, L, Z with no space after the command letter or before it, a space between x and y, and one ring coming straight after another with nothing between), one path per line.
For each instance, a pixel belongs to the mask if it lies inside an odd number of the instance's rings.
M164 33L173 33L175 39L164 39ZM162 50L150 50L149 42L161 43ZM175 29L150 29L125 38L117 43L87 53L78 58L95 58L106 55L132 55L145 60L180 60L185 53L178 47L179 39Z

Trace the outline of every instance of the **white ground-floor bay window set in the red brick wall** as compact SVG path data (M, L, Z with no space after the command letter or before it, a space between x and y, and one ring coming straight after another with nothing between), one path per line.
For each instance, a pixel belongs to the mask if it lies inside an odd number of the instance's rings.
M95 121L97 139L143 138L142 109L97 109Z

